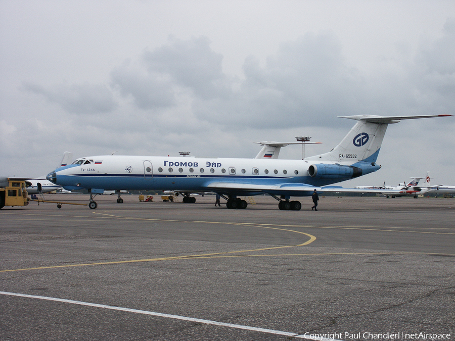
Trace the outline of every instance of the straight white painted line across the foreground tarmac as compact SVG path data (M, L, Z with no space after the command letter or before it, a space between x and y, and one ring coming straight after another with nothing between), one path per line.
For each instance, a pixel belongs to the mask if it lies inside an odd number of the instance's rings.
M211 325L222 326L222 327L244 329L244 330L250 330L250 331L258 331L258 332L262 332L262 333L277 334L277 335L284 335L284 336L291 336L291 337L298 337L298 338L305 338L305 339L317 340L317 341L342 341L342 340L336 340L336 339L333 339L333 338L329 339L329 338L322 338L322 337L310 337L309 333L297 334L297 333L292 333L292 332L288 332L288 331L281 331L281 330L274 330L274 329L267 329L267 328L249 327L249 326L244 326L244 325L241 325L241 324L217 322L217 321L204 320L204 319L187 317L187 316L162 314L162 313L156 313L156 312L147 311L147 310L138 310L138 309L130 309L130 308L122 308L122 307L113 307L113 306L107 306L107 305L104 305L104 304L97 304L97 303L89 303L89 302L57 299L57 298L54 298L54 297L45 297L45 296L36 296L36 295L8 293L7 291L0 291L0 294L1 295L8 295L8 296L25 297L25 298L29 298L29 299L38 299L38 300L46 300L46 301L77 304L79 306L87 306L87 307L119 310L119 311L125 311L125 312L129 312L129 313L152 315L152 316L158 316L158 317L166 317L166 318L172 318L172 319L176 319L176 320L183 320L183 321L211 324Z

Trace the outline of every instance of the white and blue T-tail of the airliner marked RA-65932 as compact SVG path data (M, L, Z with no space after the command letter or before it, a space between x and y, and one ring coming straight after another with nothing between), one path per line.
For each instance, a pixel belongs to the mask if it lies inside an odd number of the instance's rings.
M422 116L376 116L355 115L339 116L358 122L351 128L343 140L329 153L305 158L305 160L332 161L355 164L368 162L374 164L378 158L387 126L401 120L444 117L452 115L422 115Z

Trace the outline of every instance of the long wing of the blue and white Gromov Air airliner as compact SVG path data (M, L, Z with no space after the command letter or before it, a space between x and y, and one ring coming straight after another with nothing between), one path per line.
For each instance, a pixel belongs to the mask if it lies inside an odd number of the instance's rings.
M219 192L264 192L294 196L311 196L314 189L318 192L335 193L377 193L377 194L404 194L405 190L382 188L344 188L339 186L317 187L309 184L282 183L277 185L249 184L236 182L212 182L207 187Z

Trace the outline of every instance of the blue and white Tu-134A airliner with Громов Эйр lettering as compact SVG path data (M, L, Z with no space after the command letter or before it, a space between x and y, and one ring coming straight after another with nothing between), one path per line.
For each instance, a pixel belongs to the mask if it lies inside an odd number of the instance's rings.
M445 117L421 116L340 116L357 122L330 152L303 160L181 158L159 156L89 156L48 174L47 179L65 189L88 189L89 207L97 208L94 194L116 190L175 190L184 193L184 203L195 202L189 193L219 193L230 209L245 209L247 202L238 196L267 193L279 201L280 210L300 210L291 197L311 196L318 192L371 192L327 186L377 171L376 164L387 126L401 120ZM324 186L324 187L323 187ZM390 194L399 193L391 190Z

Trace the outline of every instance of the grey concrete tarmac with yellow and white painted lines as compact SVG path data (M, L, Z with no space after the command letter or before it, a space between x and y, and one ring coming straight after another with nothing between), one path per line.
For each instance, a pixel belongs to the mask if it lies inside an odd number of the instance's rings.
M454 199L122 198L0 210L0 340L455 340Z

